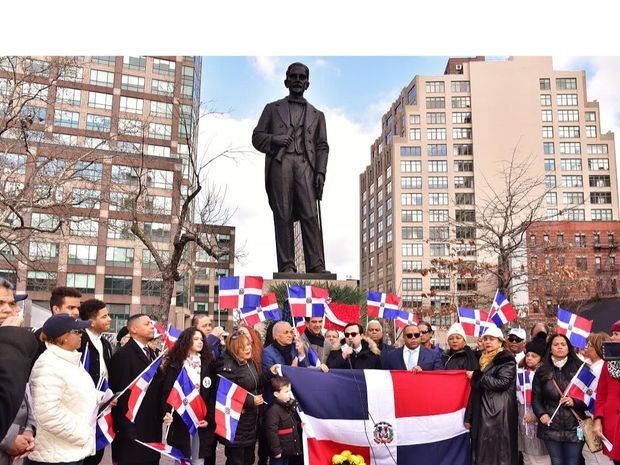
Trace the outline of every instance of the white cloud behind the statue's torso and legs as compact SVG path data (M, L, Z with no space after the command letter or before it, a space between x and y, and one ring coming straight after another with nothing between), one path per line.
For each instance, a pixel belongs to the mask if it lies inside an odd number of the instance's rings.
M379 128L365 132L340 110L322 109L330 144L322 202L326 267L338 274L359 277L359 174L369 162L369 147ZM258 115L257 115L258 117ZM229 147L251 147L256 120L208 116L201 124L200 146L213 155ZM225 204L236 209L237 247L247 257L235 264L236 274L271 277L277 271L273 217L264 187L264 155L248 153L236 162L219 160L209 180L226 187Z

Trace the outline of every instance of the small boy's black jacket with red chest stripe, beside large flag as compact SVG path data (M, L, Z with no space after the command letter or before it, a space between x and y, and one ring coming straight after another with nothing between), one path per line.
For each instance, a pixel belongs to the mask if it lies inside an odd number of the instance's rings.
M269 455L276 457L292 457L301 455L301 420L295 407L296 401L283 403L274 397L271 407L265 414L265 434L269 443Z

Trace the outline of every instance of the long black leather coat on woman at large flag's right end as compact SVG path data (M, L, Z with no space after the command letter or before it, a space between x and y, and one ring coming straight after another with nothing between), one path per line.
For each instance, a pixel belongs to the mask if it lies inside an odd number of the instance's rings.
M516 376L515 358L508 350L498 353L484 371L474 371L465 411L474 465L519 463Z

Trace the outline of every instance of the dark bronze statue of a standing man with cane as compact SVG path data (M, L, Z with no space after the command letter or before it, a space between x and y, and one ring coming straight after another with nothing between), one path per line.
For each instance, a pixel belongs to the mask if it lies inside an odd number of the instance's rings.
M299 220L306 271L325 272L323 236L317 201L327 170L325 115L305 98L310 71L302 63L286 70L288 97L268 103L252 133L252 144L265 157L265 189L273 212L278 271L294 273L293 223Z

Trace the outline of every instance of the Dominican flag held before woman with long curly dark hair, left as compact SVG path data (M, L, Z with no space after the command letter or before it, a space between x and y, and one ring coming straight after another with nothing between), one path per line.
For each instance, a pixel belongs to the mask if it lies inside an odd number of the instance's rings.
M187 425L189 435L193 436L198 423L207 416L207 406L200 395L200 386L196 387L192 383L185 367L179 372L166 402L177 411Z

